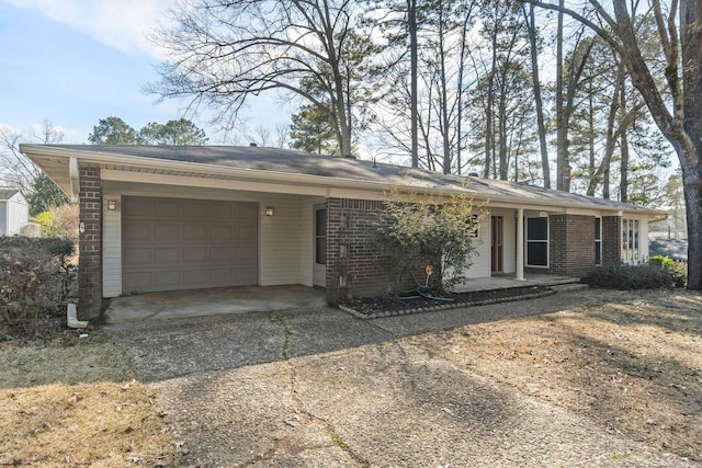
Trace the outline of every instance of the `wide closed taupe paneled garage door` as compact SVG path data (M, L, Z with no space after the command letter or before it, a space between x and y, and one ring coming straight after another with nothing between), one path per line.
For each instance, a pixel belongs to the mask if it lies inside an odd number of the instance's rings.
M254 285L257 226L256 203L125 196L122 289Z

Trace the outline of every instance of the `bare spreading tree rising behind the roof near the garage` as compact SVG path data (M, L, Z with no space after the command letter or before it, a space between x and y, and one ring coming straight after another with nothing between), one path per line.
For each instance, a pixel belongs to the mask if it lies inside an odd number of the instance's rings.
M183 98L233 128L252 96L278 90L329 103L341 152L352 152L355 88L364 75L352 0L191 0L154 39L168 54L147 91ZM364 38L364 41L370 41ZM352 64L349 62L352 61ZM349 75L349 70L353 75Z

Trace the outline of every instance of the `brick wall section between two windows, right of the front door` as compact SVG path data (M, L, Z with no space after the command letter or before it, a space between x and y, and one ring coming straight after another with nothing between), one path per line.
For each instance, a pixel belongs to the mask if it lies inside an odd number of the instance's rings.
M550 271L582 277L595 266L595 217L552 215Z

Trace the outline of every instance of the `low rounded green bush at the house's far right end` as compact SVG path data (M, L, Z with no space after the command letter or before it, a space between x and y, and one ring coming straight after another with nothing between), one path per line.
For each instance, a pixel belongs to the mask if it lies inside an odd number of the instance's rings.
M672 273L656 264L605 263L592 270L582 282L610 289L656 289L676 286Z

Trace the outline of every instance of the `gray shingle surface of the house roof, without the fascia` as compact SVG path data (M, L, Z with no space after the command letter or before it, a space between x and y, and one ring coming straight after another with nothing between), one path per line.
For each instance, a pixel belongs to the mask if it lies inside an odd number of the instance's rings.
M445 175L401 165L375 163L353 158L338 158L280 148L234 146L93 146L57 145L77 151L103 152L215 167L306 174L319 178L380 182L406 187L456 190L465 187L480 197L511 198L524 203L558 203L601 209L652 212L649 208L575 193L547 190L508 181L477 176Z

